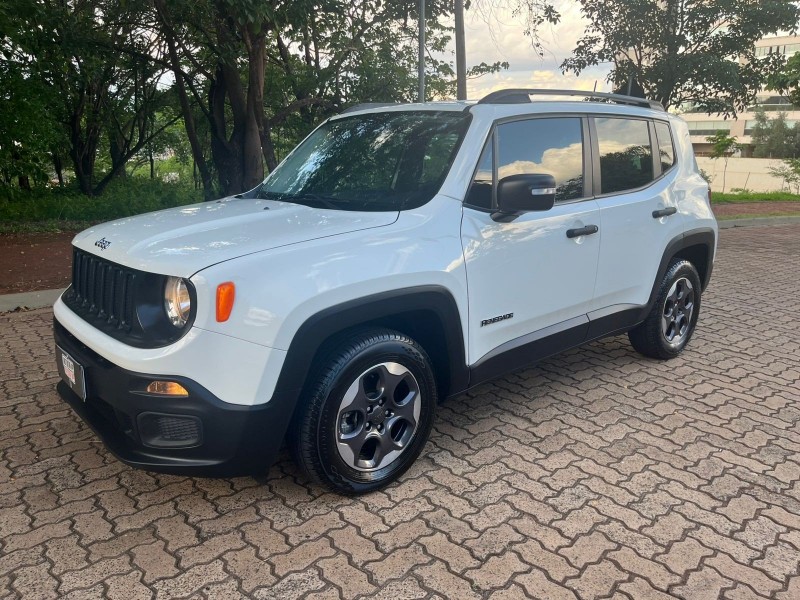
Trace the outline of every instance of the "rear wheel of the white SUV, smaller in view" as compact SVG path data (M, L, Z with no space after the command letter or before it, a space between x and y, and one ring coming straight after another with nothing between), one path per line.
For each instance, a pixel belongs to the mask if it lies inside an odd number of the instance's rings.
M628 332L637 352L669 360L692 338L700 315L700 276L692 263L673 262L661 280L655 304L643 323Z

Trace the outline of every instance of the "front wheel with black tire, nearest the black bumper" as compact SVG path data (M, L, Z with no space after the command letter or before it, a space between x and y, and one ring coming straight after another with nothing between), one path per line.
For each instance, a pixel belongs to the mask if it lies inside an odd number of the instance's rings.
M378 490L422 452L436 380L425 350L387 329L353 332L316 364L289 435L297 465L345 495Z

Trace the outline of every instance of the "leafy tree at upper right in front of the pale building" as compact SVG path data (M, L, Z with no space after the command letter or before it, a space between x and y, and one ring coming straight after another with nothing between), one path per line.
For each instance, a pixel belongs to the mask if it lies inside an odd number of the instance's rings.
M609 80L630 78L665 108L693 103L735 114L782 65L756 57L755 42L794 30L800 9L786 0L579 0L589 25L561 67L579 74L610 62Z

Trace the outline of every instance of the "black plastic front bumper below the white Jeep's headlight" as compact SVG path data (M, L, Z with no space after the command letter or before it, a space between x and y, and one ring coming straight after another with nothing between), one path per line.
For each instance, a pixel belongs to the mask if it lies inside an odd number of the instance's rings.
M122 462L164 473L229 477L264 472L277 457L294 405L289 398L230 404L186 377L127 371L57 320L53 333L56 344L83 366L87 398L81 400L63 381L59 394ZM148 394L153 380L176 381L189 395Z

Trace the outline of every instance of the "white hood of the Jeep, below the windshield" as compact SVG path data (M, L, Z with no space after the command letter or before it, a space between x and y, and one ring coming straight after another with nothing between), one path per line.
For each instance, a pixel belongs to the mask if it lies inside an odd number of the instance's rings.
M190 277L246 254L391 225L398 215L225 198L103 223L72 244L141 271Z

